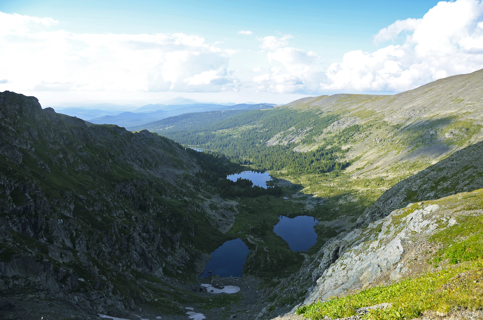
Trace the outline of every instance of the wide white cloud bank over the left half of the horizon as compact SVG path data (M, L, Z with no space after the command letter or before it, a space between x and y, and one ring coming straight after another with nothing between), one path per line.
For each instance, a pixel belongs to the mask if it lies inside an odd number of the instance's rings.
M76 34L57 21L0 13L0 89L83 91L238 90L234 50L196 35ZM6 83L6 82L3 82ZM6 87L8 86L8 87Z

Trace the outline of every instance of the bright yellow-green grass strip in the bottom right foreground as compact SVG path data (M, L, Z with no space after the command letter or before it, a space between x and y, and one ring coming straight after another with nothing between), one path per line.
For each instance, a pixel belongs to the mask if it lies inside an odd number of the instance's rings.
M386 287L374 287L327 302L315 302L297 309L312 320L350 317L357 308L393 303L386 309L370 310L365 319L409 320L426 310L448 312L453 307L483 307L483 260L462 263L451 269L410 276ZM475 281L475 282L473 282Z

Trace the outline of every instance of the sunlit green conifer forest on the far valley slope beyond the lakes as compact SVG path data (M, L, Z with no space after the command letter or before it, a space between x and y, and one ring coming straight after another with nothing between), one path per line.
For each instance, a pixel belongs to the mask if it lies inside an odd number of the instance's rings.
M313 150L297 152L293 148L315 143L337 119L336 115L312 111L256 110L191 130L166 131L163 135L183 145L223 150L230 160L257 170L275 171L279 175L323 174L338 172L350 164L340 160L348 151L341 145L358 131L357 125L345 128ZM276 140L279 132L284 134ZM284 135L293 138L284 141ZM266 143L270 139L271 144Z

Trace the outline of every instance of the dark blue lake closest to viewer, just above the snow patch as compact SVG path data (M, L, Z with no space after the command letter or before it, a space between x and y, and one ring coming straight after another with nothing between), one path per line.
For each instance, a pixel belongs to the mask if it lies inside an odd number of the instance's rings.
M210 255L212 260L206 262L205 271L199 276L241 276L243 264L250 249L240 238L226 241L223 245L214 250ZM209 273L208 271L212 271Z

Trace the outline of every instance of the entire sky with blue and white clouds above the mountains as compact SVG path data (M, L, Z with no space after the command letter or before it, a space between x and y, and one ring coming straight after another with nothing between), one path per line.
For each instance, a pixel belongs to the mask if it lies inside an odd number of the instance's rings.
M0 61L43 105L395 94L483 68L483 3L2 0Z

